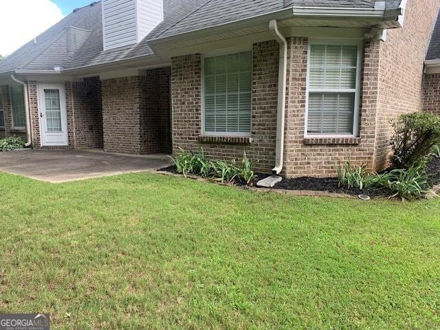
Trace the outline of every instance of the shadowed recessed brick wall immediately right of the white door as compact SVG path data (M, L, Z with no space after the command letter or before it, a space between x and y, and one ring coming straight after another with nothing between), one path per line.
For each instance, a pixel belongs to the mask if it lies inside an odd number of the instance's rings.
M99 78L66 82L65 87L69 146L102 148L102 102Z

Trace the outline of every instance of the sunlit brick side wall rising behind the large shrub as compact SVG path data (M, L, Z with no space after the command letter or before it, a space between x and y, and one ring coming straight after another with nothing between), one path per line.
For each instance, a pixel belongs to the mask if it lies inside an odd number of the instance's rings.
M391 151L390 121L402 113L421 111L423 61L439 12L439 0L408 1L404 28L388 31L380 44L375 169L387 166Z

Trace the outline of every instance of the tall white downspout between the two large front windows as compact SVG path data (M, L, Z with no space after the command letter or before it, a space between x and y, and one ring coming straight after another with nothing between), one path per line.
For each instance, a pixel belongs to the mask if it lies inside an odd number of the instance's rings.
M276 110L276 150L275 167L272 174L278 175L283 170L284 157L284 126L286 110L286 78L287 78L287 40L278 30L276 19L269 22L269 30L280 44L280 63L278 68L278 105Z

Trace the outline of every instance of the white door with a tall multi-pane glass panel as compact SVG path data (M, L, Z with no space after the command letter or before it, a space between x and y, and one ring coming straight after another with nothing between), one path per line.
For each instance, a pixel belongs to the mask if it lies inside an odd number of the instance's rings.
M67 146L67 111L65 87L39 84L41 146Z

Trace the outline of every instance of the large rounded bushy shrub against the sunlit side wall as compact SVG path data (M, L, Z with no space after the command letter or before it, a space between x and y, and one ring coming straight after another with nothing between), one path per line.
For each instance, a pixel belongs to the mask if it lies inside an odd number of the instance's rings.
M411 168L426 163L440 144L440 117L431 113L408 113L393 122L393 168Z

